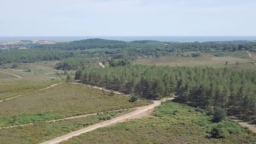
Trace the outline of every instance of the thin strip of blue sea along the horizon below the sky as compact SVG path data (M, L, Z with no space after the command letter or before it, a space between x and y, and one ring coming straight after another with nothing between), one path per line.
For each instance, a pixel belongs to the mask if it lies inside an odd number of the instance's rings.
M0 36L0 42L10 42L19 40L53 40L67 42L93 38L123 41L158 40L162 42L256 40L256 36Z

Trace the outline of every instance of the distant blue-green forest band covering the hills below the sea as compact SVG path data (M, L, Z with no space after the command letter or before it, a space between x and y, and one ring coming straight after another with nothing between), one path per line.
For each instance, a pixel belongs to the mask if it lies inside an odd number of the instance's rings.
M97 48L100 49L97 50ZM102 48L106 50L102 50ZM95 51L88 51L86 49L95 49ZM0 64L62 60L72 57L112 57L112 59L136 60L139 56L152 56L156 58L161 56L187 57L200 56L201 52L234 52L242 50L256 52L256 43L168 43L154 40L125 42L106 39L85 39L69 43L40 45L32 49L0 51ZM189 54L184 54L184 52L189 52Z

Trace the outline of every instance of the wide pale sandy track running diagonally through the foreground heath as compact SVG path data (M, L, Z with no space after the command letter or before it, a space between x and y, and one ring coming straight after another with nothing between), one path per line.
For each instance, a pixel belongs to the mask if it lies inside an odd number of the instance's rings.
M171 98L171 99L173 99L173 98ZM57 137L57 138L55 138L53 140L50 140L50 141L43 142L41 144L58 144L62 141L67 141L71 137L78 136L80 134L83 134L83 133L86 133L86 132L89 132L89 131L93 131L97 128L106 127L106 126L116 124L118 122L125 121L125 120L131 119L131 118L138 118L139 115L143 115L143 113L147 113L147 111L150 111L152 108L154 108L154 107L156 107L160 104L161 104L161 101L154 101L154 104L141 107L138 110L133 111L129 114L122 115L120 117L113 118L112 120L104 121L102 123L95 124L95 125L89 126L87 128L83 128L83 129L78 130L78 131L73 131L69 134L63 135L61 137Z

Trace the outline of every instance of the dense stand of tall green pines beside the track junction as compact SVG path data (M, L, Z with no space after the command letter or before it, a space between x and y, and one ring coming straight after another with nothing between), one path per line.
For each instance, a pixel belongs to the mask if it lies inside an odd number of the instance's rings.
M181 102L205 108L235 108L256 115L256 72L228 68L125 65L78 70L75 79L142 98L172 94Z

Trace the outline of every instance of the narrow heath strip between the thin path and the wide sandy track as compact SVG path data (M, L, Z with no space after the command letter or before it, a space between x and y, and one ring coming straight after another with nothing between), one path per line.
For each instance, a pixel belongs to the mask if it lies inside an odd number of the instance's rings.
M85 118L74 118L55 122L39 122L22 127L0 129L1 144L38 144L86 128L92 124L100 123L121 115L125 115L135 109L104 112L100 115L90 115ZM107 118L104 119L103 118Z

